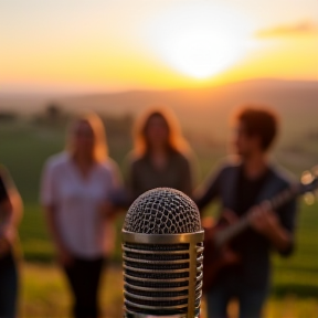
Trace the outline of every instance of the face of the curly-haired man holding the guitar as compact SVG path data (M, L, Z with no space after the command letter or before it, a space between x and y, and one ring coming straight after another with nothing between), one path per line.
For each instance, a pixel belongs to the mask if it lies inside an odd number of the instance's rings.
M247 134L243 123L237 123L233 134L234 152L248 158L259 150L259 138Z

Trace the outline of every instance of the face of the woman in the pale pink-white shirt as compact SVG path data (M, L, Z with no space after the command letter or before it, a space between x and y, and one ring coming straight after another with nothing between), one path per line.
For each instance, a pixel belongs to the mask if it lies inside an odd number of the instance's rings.
M94 141L94 131L89 124L85 120L76 123L73 130L74 151L91 157L93 155Z

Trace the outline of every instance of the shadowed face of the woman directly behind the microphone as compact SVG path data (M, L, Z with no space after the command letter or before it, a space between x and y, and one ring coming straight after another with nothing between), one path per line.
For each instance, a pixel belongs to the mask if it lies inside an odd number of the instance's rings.
M151 116L146 128L146 139L151 148L166 147L169 138L169 129L166 120L158 115Z

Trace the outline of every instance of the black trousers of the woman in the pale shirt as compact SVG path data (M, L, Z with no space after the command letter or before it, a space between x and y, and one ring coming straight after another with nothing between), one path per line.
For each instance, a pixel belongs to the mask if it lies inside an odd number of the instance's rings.
M74 295L73 315L76 318L97 318L100 274L105 259L75 258L72 266L64 267Z

